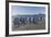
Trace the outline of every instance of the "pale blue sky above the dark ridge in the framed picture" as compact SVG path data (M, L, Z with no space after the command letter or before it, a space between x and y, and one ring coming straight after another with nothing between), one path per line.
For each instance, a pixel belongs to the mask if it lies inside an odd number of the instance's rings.
M12 5L11 13L12 13L12 15L45 14L45 7Z

